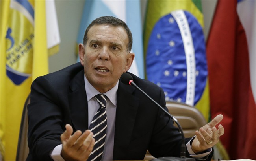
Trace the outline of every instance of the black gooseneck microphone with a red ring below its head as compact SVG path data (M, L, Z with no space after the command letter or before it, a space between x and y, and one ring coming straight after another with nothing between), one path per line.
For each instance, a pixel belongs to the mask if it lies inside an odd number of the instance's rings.
M161 108L161 110L163 110L163 112L165 112L169 117L171 117L171 119L178 125L180 133L182 135L182 144L181 144L181 149L180 149L180 157L160 157L160 158L157 158L157 159L152 159L152 161L195 161L195 159L193 159L193 158L186 158L185 137L184 137L183 130L182 130L178 120L175 117L173 117L169 112L167 112L162 106L160 106L160 104L158 104L156 101L154 101L149 95L147 95L147 93L145 93L143 90L141 90L141 88L139 88L134 83L132 75L130 75L129 73L123 73L120 77L120 80L121 80L122 83L124 83L126 85L132 85L135 88L137 88L145 96L147 96L148 99L150 99L152 102L154 102L154 104L156 104L159 108Z

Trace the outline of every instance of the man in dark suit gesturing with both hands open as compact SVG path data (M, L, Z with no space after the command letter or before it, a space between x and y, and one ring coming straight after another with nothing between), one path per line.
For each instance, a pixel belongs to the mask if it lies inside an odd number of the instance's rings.
M131 48L132 34L122 20L97 18L79 44L80 63L33 82L27 160L87 160L98 143L88 130L100 107L97 94L107 96L108 126L100 159L143 160L147 150L154 157L179 156L181 134L173 121L140 91L119 81L134 60ZM131 75L137 86L167 110L161 88ZM211 147L224 133L223 126L215 127L222 119L218 115L195 137L186 139L187 157L211 159Z

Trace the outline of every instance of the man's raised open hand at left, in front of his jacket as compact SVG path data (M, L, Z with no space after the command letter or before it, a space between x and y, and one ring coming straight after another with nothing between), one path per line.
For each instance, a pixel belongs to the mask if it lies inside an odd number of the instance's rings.
M73 133L70 124L66 124L66 130L61 134L62 150L61 156L66 161L86 161L93 150L95 139L90 130L82 132L77 130Z

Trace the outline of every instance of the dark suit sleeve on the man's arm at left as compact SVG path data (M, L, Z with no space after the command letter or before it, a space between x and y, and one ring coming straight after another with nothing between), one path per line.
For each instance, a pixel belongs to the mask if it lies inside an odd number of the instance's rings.
M63 113L58 93L45 77L37 78L31 86L28 105L28 146L33 159L52 160L50 151L61 144Z

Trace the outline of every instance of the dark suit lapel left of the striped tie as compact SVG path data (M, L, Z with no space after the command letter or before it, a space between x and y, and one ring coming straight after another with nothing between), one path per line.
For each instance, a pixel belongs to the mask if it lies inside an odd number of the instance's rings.
M84 85L84 71L70 81L69 107L73 127L84 132L88 129L88 104Z

